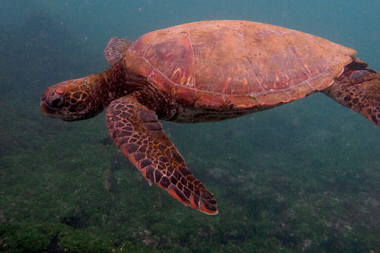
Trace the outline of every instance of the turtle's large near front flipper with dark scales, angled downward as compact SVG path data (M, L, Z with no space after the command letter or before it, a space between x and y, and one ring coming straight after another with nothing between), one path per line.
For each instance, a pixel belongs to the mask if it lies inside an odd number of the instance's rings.
M154 111L128 95L109 104L106 118L111 138L146 180L186 206L218 213L214 195L190 173Z

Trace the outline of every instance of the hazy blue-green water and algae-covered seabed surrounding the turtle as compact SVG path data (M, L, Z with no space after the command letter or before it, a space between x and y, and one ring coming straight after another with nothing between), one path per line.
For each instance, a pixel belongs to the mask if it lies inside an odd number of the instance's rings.
M380 127L316 93L216 123L162 122L217 216L111 143L104 113L44 117L46 87L104 71L112 37L201 20L284 26L380 70L380 1L1 0L0 252L380 253Z

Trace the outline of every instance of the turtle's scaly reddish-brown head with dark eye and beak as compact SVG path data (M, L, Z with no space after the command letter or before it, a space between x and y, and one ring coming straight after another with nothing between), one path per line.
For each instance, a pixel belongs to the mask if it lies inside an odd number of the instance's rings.
M64 121L80 121L94 117L103 110L96 99L95 77L65 81L46 89L40 106L44 115Z

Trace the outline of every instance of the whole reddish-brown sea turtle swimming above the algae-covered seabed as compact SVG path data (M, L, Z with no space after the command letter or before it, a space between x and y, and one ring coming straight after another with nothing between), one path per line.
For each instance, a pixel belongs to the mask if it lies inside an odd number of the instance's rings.
M250 21L203 21L112 38L104 73L55 84L42 112L64 121L107 107L109 134L151 185L186 206L217 214L214 195L188 169L157 120L232 119L322 91L380 125L380 77L355 50Z

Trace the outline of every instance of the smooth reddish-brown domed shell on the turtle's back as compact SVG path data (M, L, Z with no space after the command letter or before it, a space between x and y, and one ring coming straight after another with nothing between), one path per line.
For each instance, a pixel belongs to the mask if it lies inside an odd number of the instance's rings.
M128 68L195 107L246 109L322 90L356 53L310 34L250 21L203 21L143 35Z

